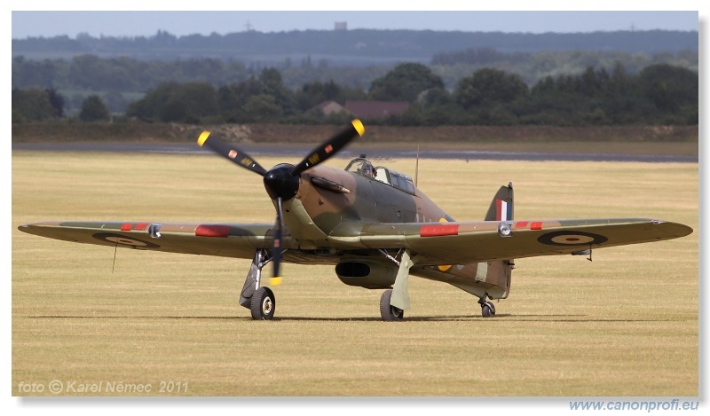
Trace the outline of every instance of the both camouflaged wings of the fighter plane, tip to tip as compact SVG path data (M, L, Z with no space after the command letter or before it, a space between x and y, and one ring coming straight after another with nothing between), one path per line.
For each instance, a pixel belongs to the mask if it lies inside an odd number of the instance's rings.
M501 237L500 221L362 224L357 235L330 235L343 249L408 248L417 265L564 255L588 248L675 239L690 234L683 224L647 218L511 221ZM186 224L139 222L45 222L20 225L22 232L51 239L192 255L251 259L272 247L272 224ZM354 230L351 229L351 232ZM293 246L293 247L292 247ZM284 248L297 248L288 236Z

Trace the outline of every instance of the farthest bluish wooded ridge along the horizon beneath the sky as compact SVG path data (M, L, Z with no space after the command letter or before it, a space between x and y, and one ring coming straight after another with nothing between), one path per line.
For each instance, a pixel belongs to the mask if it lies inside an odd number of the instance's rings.
M534 19L531 13L531 19ZM396 18L395 18L396 19ZM502 33L432 30L294 30L263 33L256 30L225 35L172 35L158 30L152 36L88 34L12 39L20 54L52 52L65 55L97 53L176 60L185 57L258 60L284 55L314 55L341 59L430 59L439 52L481 45L501 51L698 51L698 31L621 30L593 33ZM342 66L338 64L339 66Z

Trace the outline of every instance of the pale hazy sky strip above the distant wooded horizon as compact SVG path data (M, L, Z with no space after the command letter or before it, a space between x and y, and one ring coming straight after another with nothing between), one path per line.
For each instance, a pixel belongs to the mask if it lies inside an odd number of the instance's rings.
M354 5L354 4L351 4ZM698 30L694 12L12 12L12 38L28 36L209 35L319 29L335 21L348 28L431 29L502 32L592 32L597 30Z

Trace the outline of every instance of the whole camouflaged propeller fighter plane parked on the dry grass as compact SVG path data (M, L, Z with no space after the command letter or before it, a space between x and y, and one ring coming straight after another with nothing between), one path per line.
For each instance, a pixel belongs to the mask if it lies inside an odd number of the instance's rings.
M366 157L344 170L320 163L365 129L359 120L327 139L296 166L266 170L238 147L204 131L198 144L264 177L276 209L275 224L167 224L160 222L45 222L20 231L80 243L192 255L252 259L239 303L252 318L271 319L276 308L262 270L272 263L335 265L344 284L381 289L380 313L398 321L410 308L409 275L456 286L478 298L483 317L491 300L510 291L514 259L588 255L595 248L675 239L692 229L646 218L514 220L513 186L501 186L483 221L459 222L414 186L412 178Z

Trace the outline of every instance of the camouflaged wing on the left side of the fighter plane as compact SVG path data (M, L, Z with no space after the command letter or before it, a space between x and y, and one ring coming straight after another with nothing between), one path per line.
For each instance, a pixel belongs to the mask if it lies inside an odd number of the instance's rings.
M251 259L257 248L272 247L272 227L273 224L46 222L20 225L19 229L51 239L101 246Z

